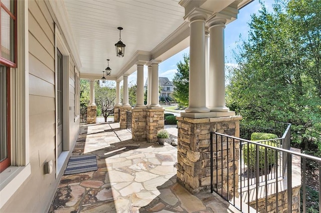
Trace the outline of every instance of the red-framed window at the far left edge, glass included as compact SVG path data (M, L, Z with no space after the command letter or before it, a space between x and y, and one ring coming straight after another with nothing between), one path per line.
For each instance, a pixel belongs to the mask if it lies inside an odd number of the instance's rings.
M0 172L11 165L10 71L17 61L17 1L0 0Z

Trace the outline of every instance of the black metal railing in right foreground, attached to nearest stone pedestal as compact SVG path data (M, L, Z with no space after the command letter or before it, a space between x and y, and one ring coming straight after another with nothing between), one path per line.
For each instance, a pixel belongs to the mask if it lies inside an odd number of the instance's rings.
M315 177L306 176L305 165L307 161L313 161L321 168L321 158L282 148L283 145L289 145L285 144L289 141L287 138L289 129L290 125L281 138L261 141L211 132L211 192L215 191L242 212L250 212L250 208L268 212L271 205L268 199L271 198L271 193L274 193L274 212L282 210L279 202L284 200L287 200L285 201L287 212L292 212L293 191L289 189L301 185L303 191L301 210L306 212L306 182L309 178ZM281 147L272 144L280 140ZM287 166L284 165L284 158L288 162ZM302 167L300 167L301 159ZM249 167L253 167L253 172L249 171ZM319 188L321 188L320 172L321 169L317 172ZM269 175L273 178L269 178ZM253 178L256 180L251 184ZM264 209L259 209L259 200L264 200L265 204L261 205ZM320 192L317 201L321 202ZM321 212L321 205L318 210Z

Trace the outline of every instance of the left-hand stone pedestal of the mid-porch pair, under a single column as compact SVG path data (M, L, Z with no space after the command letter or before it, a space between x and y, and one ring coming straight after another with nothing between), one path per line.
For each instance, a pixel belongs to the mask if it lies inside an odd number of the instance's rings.
M146 140L146 109L145 108L132 109L131 135L134 141Z

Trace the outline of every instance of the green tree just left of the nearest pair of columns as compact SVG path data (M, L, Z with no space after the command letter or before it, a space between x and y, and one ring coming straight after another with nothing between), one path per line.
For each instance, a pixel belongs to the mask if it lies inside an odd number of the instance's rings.
M177 63L177 72L173 78L174 92L173 96L179 102L179 105L187 107L189 105L189 73L190 56L183 55L183 62Z

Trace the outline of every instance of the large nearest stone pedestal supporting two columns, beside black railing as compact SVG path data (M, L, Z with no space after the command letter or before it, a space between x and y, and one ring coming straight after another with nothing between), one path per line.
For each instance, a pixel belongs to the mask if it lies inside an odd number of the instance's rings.
M228 117L207 117L207 118L190 118L177 117L178 119L178 182L184 185L190 192L197 193L209 190L211 185L211 167L210 167L210 131L217 131L232 136L239 136L239 120L242 116ZM215 138L214 138L215 139ZM216 141L214 147L216 147ZM221 141L218 141L221 143ZM221 147L221 144L219 144ZM226 149L226 142L223 143L223 149ZM229 145L229 148L233 145ZM227 169L229 169L229 191L233 190L233 171L235 173L235 187L238 188L238 159L239 146L235 144L236 159L229 156L224 157L223 161L223 188L227 188ZM226 152L224 150L224 152ZM230 153L233 151L230 150ZM228 160L228 161L227 161ZM228 163L227 163L228 162ZM214 163L215 165L215 163ZM221 165L219 165L221 166ZM221 167L219 167L219 172ZM216 168L214 167L214 175ZM216 177L214 176L216 183ZM219 181L219 186L222 185ZM237 190L236 190L237 191Z

